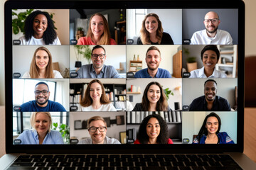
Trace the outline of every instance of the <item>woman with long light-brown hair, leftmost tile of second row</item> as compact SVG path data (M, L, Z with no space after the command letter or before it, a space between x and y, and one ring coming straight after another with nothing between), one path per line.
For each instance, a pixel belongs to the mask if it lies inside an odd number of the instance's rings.
M50 51L46 47L38 47L33 54L29 72L25 72L22 78L63 78L60 72L53 70L52 63Z

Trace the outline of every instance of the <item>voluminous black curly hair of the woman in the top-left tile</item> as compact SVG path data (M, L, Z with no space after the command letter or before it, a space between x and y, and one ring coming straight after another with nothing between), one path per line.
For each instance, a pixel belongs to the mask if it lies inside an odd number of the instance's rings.
M47 18L47 28L46 31L43 33L43 41L46 43L46 45L52 44L57 38L57 33L55 31L55 26L52 18L50 18L49 13L45 11L33 11L31 14L29 14L29 16L26 17L24 24L25 39L26 41L28 41L33 36L33 20L39 14L42 14Z

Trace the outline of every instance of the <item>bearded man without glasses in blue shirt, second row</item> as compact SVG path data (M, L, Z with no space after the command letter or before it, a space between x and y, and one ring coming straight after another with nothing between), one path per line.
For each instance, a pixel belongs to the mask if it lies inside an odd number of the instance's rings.
M161 53L157 47L149 47L145 60L147 68L136 72L134 78L171 78L171 74L166 69L159 68Z

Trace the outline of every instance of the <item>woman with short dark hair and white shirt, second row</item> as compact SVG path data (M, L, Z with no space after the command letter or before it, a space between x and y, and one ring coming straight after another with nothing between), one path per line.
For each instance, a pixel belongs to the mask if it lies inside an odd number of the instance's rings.
M189 78L226 78L227 75L217 70L215 65L220 59L220 51L216 45L206 45L201 51L203 67L191 71Z

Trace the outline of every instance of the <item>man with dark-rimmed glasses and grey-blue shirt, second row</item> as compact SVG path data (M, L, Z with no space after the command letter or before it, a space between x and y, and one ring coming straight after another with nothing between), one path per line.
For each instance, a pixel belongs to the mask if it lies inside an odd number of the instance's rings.
M82 65L78 70L77 78L119 78L116 69L111 65L105 65L106 50L101 45L92 48L92 64Z

